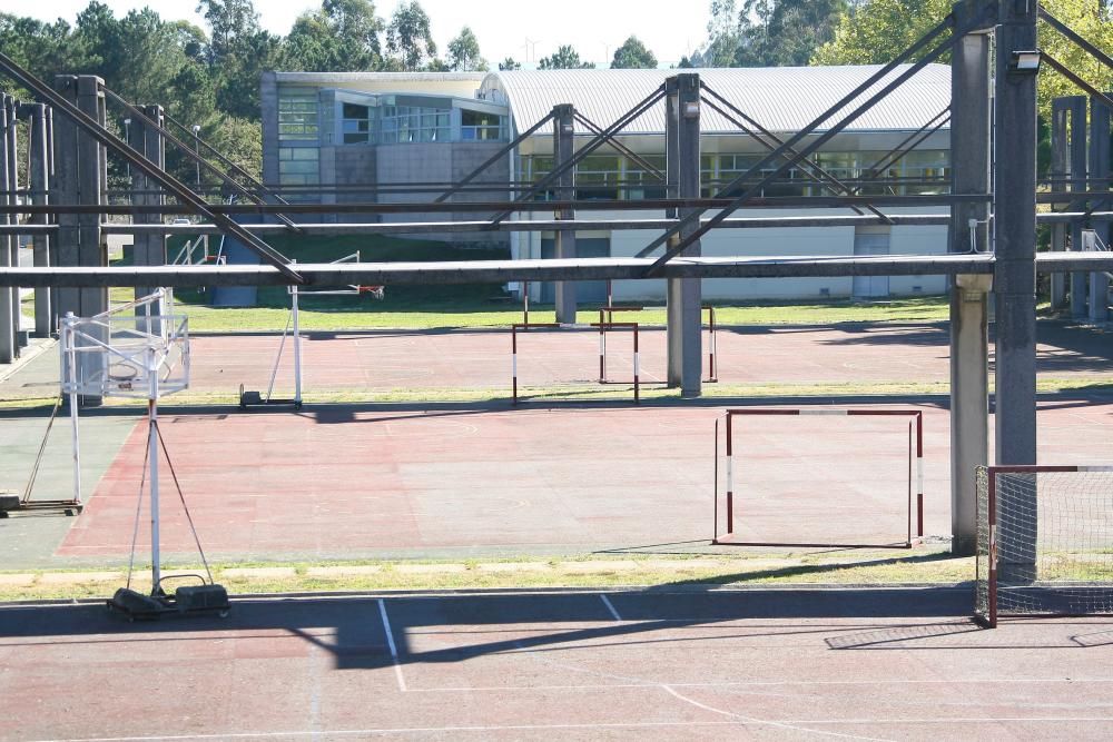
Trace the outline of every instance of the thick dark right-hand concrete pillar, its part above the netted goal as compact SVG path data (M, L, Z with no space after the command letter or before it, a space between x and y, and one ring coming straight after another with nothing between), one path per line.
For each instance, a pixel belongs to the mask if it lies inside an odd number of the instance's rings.
M1036 463L1036 76L1012 69L1036 43L1036 3L1002 2L996 29L994 228L996 461Z

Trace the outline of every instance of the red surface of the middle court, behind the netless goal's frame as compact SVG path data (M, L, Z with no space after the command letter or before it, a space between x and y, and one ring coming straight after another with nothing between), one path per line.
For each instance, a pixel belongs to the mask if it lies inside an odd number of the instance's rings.
M925 534L946 536L947 413L917 408L925 417ZM721 414L652 405L319 406L173 414L161 427L210 554L460 557L706 545ZM907 423L870 431L843 426L845 418L785 419L794 425L739 434L740 482L755 468L759 475L739 489L742 540L903 541ZM1042 462L1113 462L1113 405L1056 399L1042 404L1040 425ZM145 442L139 424L58 557L126 557ZM164 548L191 555L165 466L162 502ZM141 545L146 538L144 527Z

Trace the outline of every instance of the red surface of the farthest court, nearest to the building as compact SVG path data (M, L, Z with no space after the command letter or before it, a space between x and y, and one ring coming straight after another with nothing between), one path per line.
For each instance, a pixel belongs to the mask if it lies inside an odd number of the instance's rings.
M1040 333L1042 375L1110 372L1107 337L1052 324L1042 324ZM660 327L640 332L643 383L664 378L664 335ZM705 353L707 339L705 333ZM730 327L716 335L716 370L723 384L946 382L948 343L946 325ZM190 344L191 388L234 393L240 384L266 389L280 338L199 335ZM609 377L629 378L631 350L628 330L608 334ZM293 388L293 364L287 342L276 389ZM523 385L590 384L599 378L598 332L520 333L518 369ZM703 369L706 375L706 357ZM303 375L306 393L472 387L502 388L509 395L510 328L313 333L303 342Z

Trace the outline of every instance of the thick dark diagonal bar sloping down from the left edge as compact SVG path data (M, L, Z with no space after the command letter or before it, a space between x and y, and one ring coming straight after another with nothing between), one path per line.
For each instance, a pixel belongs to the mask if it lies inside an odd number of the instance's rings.
M49 86L45 85L41 80L36 78L33 75L24 70L10 57L0 52L0 69L7 72L17 82L23 85L29 90L35 92L46 102L49 102L51 107L57 110L62 111L69 117L78 127L85 130L89 136L96 139L98 142L108 147L120 155L125 160L130 162L137 168L140 168L146 172L152 180L158 182L160 186L169 190L175 197L185 204L194 207L197 214L211 219L215 224L224 228L227 233L236 236L243 240L244 245L248 249L253 250L268 264L273 265L279 273L282 273L287 278L292 279L294 283L301 284L301 276L297 275L292 268L288 267L289 260L272 248L269 245L255 237L245 229L242 229L239 225L224 216L223 214L211 211L208 205L205 204L199 197L189 190L189 187L179 181L177 178L160 170L154 164L150 162L146 157L139 156L127 145L124 145L117 139L110 131L101 127L97 121L89 118L85 112L79 110L76 106L66 100L62 96L55 92ZM48 209L52 207L47 207ZM97 206L97 214L108 214L106 209L107 206ZM166 212L167 207L159 206L154 207L161 209Z

